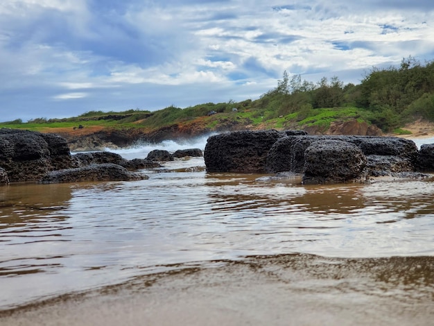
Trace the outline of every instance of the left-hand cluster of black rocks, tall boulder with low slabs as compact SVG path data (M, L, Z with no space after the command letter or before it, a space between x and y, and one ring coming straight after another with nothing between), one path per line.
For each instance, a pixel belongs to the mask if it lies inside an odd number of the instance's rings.
M53 134L0 129L0 184L43 182L141 180L129 170L157 167L157 162L124 160L109 152L71 155L67 141Z

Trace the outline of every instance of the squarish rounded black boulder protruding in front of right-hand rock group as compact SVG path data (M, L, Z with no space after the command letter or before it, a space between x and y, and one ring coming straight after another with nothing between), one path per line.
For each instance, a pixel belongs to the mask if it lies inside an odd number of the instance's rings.
M347 141L319 140L304 152L304 184L366 180L366 157Z

